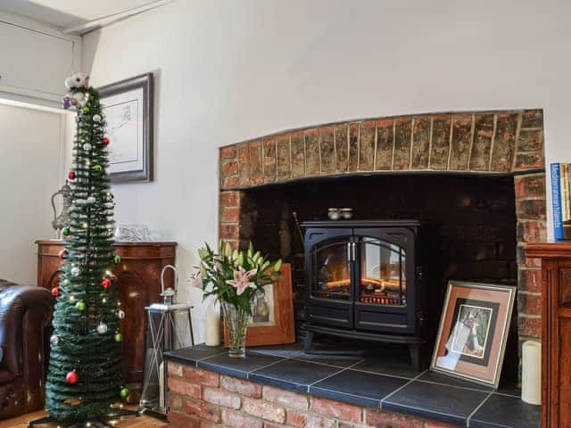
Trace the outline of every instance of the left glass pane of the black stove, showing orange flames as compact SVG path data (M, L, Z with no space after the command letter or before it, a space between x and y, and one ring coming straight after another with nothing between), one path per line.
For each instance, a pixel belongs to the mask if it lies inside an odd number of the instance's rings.
M348 237L333 238L314 247L311 296L351 300L351 244Z

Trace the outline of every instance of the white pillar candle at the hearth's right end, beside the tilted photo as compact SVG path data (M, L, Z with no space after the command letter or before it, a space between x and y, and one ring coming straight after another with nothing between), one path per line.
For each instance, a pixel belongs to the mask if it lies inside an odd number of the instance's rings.
M524 342L522 348L521 399L539 405L542 402L542 344Z

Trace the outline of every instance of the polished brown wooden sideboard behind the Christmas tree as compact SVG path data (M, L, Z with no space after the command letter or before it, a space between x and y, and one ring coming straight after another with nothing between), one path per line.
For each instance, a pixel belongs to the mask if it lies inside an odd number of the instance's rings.
M59 283L62 241L36 241L37 284L51 290ZM121 320L123 358L128 383L142 383L145 366L145 307L161 301L161 270L174 265L177 243L115 243L121 258L113 273L118 278L119 300L125 317ZM165 272L165 286L172 286L172 270Z

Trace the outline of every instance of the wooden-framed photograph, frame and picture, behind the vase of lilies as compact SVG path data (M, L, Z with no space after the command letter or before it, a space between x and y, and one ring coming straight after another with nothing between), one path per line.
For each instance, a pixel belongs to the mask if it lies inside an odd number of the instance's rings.
M255 293L252 317L246 333L246 346L285 345L295 342L292 266L283 263L274 284ZM228 332L224 331L228 346Z

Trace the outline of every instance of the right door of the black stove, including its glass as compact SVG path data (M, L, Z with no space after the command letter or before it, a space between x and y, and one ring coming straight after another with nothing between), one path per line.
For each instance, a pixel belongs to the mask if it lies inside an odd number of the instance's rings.
M406 228L356 230L356 328L414 333L414 234Z

